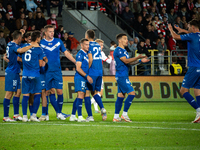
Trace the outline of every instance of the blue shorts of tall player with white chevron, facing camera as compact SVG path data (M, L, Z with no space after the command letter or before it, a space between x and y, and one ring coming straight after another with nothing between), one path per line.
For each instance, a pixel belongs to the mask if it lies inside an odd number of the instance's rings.
M62 72L46 72L46 90L63 89Z

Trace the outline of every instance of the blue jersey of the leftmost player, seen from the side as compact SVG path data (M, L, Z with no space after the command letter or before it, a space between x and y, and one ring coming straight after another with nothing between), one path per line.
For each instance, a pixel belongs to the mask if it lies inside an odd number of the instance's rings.
M20 63L17 61L18 53L17 49L20 48L18 44L11 41L6 47L6 54L9 59L9 63L6 68L6 72L20 73Z

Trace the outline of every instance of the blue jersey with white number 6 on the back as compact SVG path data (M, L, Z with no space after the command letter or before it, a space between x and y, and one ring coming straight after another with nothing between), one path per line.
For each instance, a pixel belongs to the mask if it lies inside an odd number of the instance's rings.
M24 44L23 46L29 46ZM33 47L21 55L23 63L23 76L40 77L39 60L43 60L44 54L40 47Z

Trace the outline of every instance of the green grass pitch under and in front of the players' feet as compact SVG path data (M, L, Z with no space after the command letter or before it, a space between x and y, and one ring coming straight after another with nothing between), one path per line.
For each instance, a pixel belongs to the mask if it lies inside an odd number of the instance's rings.
M200 124L191 123L196 114L186 102L133 103L129 110L132 123L113 123L115 104L104 105L108 114L106 121L94 113L95 122L69 122L68 118L60 121L50 105L50 121L2 122L0 149L200 149ZM0 107L3 115L3 105ZM71 109L72 104L63 105L63 112L69 114ZM11 105L10 117L12 114ZM84 106L83 116L87 116Z

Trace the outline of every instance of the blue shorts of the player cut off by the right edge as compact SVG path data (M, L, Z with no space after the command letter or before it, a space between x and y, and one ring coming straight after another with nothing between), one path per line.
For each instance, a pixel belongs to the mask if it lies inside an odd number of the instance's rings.
M200 68L189 67L183 79L182 87L200 89Z

